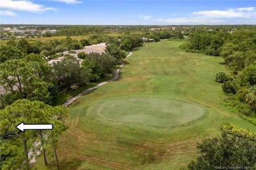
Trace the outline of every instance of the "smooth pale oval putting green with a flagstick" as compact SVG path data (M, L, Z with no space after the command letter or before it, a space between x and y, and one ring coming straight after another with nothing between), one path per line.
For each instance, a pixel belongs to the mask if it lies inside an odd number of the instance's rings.
M97 114L111 121L175 126L193 121L204 114L200 106L159 98L119 98L98 106Z

